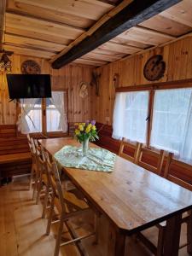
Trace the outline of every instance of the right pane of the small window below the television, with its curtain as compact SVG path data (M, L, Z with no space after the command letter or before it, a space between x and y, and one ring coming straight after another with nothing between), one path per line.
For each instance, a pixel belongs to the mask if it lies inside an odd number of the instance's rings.
M63 91L53 91L52 98L46 99L47 131L67 131Z

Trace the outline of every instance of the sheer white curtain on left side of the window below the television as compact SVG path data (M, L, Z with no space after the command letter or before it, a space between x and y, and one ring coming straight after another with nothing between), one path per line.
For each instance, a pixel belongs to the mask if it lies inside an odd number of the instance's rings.
M21 106L21 113L18 116L17 120L17 129L20 131L22 134L27 134L31 132L30 127L26 121L26 117L30 113L31 110L33 110L35 103L38 101L38 99L33 98L33 99L23 99L20 100L22 101L20 103ZM32 121L32 120L31 120Z

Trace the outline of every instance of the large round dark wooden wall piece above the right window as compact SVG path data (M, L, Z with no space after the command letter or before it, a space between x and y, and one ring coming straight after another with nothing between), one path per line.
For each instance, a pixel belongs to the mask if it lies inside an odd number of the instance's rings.
M149 81L159 80L166 71L166 62L163 61L162 55L154 55L146 62L143 75Z

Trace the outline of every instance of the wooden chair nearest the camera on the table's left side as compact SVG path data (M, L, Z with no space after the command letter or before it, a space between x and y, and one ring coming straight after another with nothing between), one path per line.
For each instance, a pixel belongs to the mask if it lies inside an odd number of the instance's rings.
M53 193L51 195L51 205L50 205L46 235L49 235L51 223L59 222L59 230L58 230L58 234L55 242L54 256L58 256L61 246L65 246L73 242L76 243L81 254L83 253L82 244L79 245L78 241L82 241L83 239L89 236L93 236L96 233L95 231L93 231L93 232L90 232L90 234L87 234L84 236L78 236L76 234L76 231L73 229L73 225L70 223L70 218L79 216L79 214L82 212L90 211L90 208L88 207L87 203L82 200L79 202L78 206L75 205L72 207L71 203L69 203L65 197L65 194L67 193L67 191L61 189L61 181L60 181L59 172L58 172L56 163L53 162L52 164L50 164L49 154L47 153L45 153L45 158L46 158L47 170L49 172L49 182L53 190ZM78 198L76 200L77 202L79 201ZM56 220L56 221L52 220L54 207L56 208L60 216L59 220ZM63 232L64 223L67 226L67 230L69 230L73 238L70 241L61 242L61 235Z

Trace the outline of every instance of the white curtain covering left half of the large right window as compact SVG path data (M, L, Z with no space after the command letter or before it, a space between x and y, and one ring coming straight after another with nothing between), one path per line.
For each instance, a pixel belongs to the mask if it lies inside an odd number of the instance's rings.
M146 143L148 91L116 94L113 109L113 138L125 137L132 142Z

